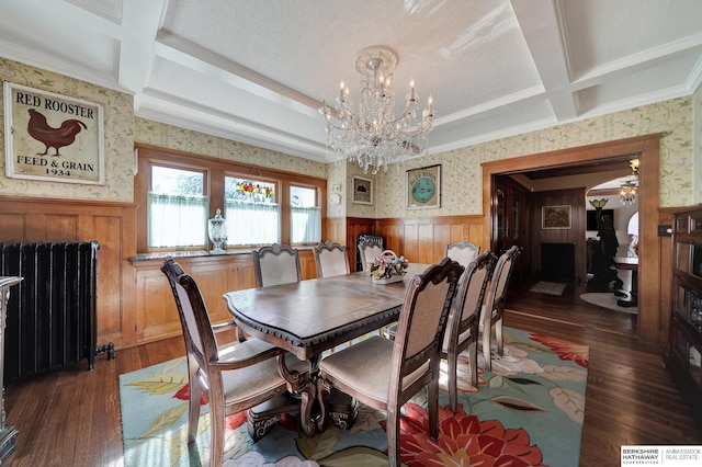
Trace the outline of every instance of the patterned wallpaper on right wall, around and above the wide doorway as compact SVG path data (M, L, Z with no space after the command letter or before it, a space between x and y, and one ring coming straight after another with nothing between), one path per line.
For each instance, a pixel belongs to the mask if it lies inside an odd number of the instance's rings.
M574 148L597 143L666 133L660 141L660 206L684 206L702 202L693 186L702 184L700 143L693 156L693 100L700 94L631 109L543 130L496 139L389 168L376 175L374 217L422 217L482 214L482 162ZM702 112L698 121L702 119ZM695 135L700 138L701 123ZM700 138L702 139L702 138ZM693 159L697 160L694 163ZM405 171L441 164L441 208L405 209ZM693 171L697 166L697 171ZM400 189L397 189L399 186ZM355 209L349 209L355 216Z

